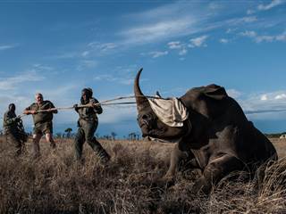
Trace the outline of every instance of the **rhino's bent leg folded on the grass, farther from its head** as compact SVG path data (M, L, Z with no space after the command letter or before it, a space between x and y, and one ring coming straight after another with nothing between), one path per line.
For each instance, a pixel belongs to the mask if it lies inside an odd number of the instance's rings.
M214 159L204 169L202 177L198 178L192 187L192 193L210 193L212 186L232 171L242 170L245 165L230 154Z

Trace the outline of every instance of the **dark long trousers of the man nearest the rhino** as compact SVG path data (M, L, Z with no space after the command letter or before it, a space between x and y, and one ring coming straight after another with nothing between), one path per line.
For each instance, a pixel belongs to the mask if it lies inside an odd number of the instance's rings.
M109 161L110 156L97 141L94 136L97 130L97 122L84 122L80 123L80 128L75 136L74 146L75 146L75 156L78 161L81 161L83 144L87 142L90 147L97 153L97 156L101 161Z

